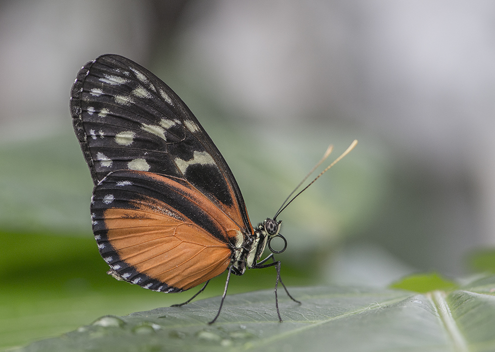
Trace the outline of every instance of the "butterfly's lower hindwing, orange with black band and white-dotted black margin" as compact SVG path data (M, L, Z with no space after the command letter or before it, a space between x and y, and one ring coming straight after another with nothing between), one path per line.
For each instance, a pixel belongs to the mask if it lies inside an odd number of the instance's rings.
M160 292L194 287L228 267L239 226L181 179L110 173L94 190L93 231L112 274Z

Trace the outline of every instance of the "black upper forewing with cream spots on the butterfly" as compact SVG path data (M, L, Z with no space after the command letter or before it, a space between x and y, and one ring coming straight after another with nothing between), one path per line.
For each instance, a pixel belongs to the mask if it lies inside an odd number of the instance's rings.
M252 233L223 156L186 104L147 69L99 56L79 71L70 107L95 185L115 170L183 179Z

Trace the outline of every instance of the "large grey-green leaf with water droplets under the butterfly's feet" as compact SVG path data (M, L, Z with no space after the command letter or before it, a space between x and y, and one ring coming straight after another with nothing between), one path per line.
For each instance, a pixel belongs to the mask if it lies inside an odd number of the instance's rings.
M31 351L494 351L495 277L426 294L352 287L227 296L128 316L105 316Z

